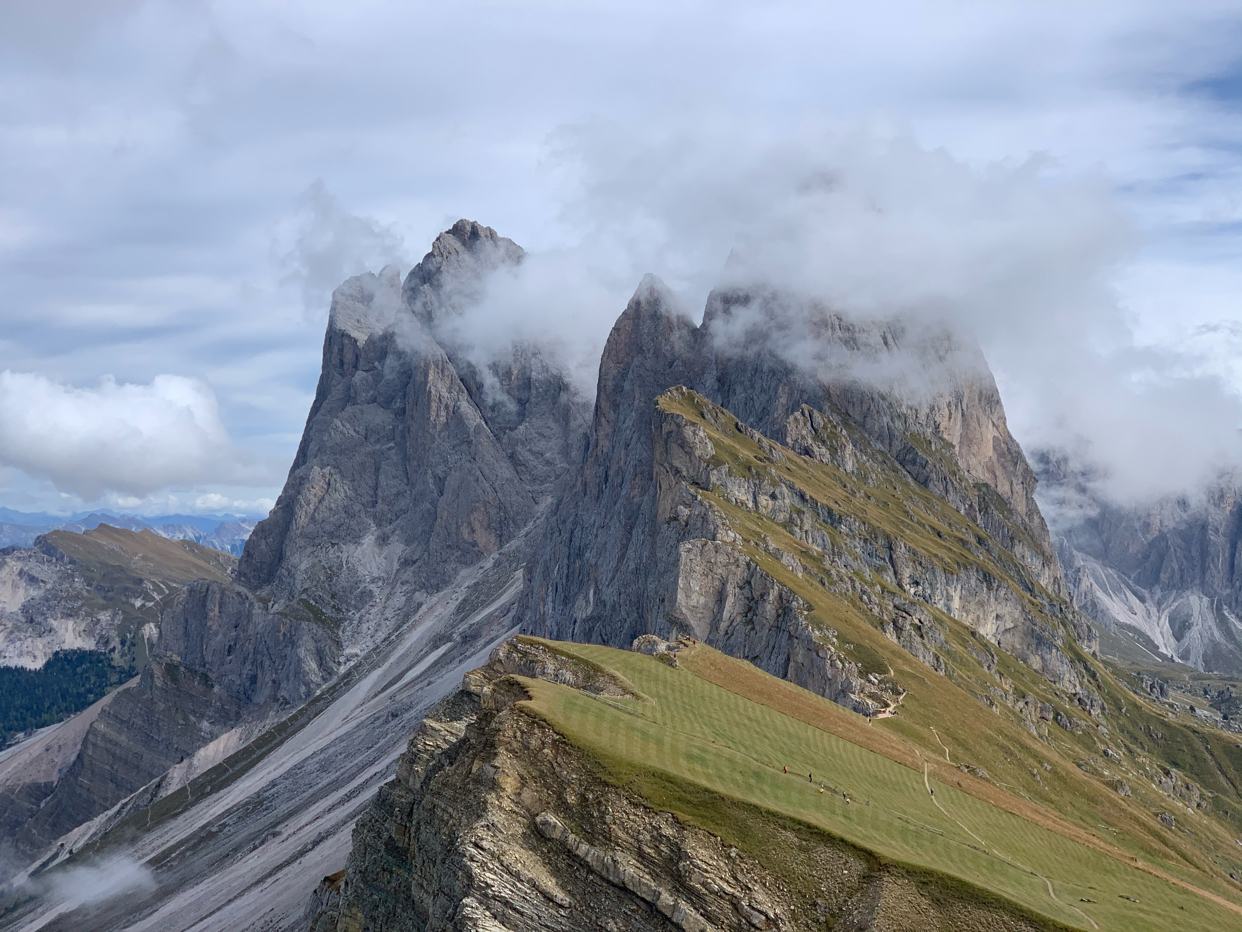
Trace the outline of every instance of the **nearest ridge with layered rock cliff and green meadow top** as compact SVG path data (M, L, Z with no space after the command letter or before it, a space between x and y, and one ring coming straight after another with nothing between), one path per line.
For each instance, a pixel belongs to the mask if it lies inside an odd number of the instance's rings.
M676 666L527 637L494 651L411 741L312 930L1242 920L1213 879L963 773L900 717L868 723L705 645L673 650ZM1049 779L1081 794L1090 778L1064 769Z

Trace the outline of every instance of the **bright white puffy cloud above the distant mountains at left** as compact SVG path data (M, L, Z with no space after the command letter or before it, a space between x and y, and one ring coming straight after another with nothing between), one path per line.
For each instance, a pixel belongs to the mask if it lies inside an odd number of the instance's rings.
M83 389L0 372L0 462L83 501L236 481L252 468L247 460L196 379L156 375L142 385L109 377Z

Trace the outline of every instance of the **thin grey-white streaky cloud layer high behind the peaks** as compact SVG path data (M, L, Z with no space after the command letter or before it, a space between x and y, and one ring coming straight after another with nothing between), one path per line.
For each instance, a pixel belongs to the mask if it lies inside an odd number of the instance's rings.
M1001 1L949 15L908 0L364 2L348 14L16 0L0 5L0 369L78 385L106 373L202 379L230 434L287 464L318 374L308 308L322 321L347 275L400 260L397 237L421 250L465 215L546 257L549 278L578 261L566 254L585 230L555 198L574 179L538 167L548 133L591 113L787 127L895 114L971 165L1032 150L1076 171L1105 165L1156 241L1136 263L1170 270L1160 288L1123 283L1125 308L1145 328L1210 323L1235 313L1237 292L1225 282L1205 295L1202 272L1238 265L1242 121L1226 93L1238 21L1236 0ZM743 149L749 130L737 130ZM375 220L358 226L355 214ZM642 229L625 232L652 251ZM587 252L615 268L606 250ZM723 262L714 241L689 258L669 270L683 293L694 270ZM599 280L616 308L643 271L627 268L625 288ZM525 281L504 287L532 313L560 316L569 355L600 343L594 313L579 334L564 302ZM594 271L574 290L586 308L612 301ZM1016 415L1020 393L1002 388Z

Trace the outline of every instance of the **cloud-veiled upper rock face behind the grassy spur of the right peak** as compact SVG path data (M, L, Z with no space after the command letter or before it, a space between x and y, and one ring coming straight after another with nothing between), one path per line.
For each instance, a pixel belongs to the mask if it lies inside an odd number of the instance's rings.
M714 359L692 388L782 444L801 405L836 409L1059 593L1037 480L979 348L946 331L790 303L764 291L714 293L703 319Z

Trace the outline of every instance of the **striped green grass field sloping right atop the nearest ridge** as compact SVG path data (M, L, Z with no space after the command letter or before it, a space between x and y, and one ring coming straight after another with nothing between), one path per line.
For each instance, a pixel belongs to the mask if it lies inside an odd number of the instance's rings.
M545 644L614 671L645 700L523 680L532 712L610 779L745 847L791 884L816 879L782 860L774 839L786 824L904 865L924 885L965 884L1064 926L1223 932L1242 923L1240 897L1213 892L1211 877L1182 864L1177 880L1120 844L1148 840L1095 839L1053 808L934 761L902 737L910 727L902 716L868 726L703 645L683 650L673 669L628 651Z

